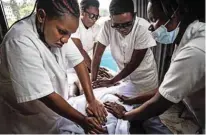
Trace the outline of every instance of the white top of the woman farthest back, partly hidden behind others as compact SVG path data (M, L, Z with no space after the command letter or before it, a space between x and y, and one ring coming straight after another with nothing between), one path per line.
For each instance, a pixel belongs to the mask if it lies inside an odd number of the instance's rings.
M94 42L97 41L97 35L100 31L100 26L95 23L92 27L86 28L82 22L79 20L79 27L77 31L71 35L71 38L80 39L82 42L83 49L89 54L92 58Z

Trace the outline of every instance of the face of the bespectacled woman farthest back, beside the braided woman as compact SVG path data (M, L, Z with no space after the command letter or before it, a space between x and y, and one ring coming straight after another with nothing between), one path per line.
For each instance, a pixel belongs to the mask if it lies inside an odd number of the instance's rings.
M82 21L85 26L92 27L99 18L99 9L97 7L90 6L82 12Z

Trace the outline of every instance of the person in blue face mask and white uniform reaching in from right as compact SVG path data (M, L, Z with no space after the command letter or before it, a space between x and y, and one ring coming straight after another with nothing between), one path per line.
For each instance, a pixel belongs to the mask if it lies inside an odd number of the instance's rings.
M203 3L204 1L192 0L149 1L147 13L151 22L151 34L157 42L175 45L170 67L156 92L135 98L118 95L125 103L144 104L126 112L121 105L107 102L105 105L110 113L125 120L146 120L162 114L183 99L197 96L193 97L191 104L202 98L198 104L201 110L195 111L199 111L201 117L197 119L204 128L205 23L201 22L204 20Z

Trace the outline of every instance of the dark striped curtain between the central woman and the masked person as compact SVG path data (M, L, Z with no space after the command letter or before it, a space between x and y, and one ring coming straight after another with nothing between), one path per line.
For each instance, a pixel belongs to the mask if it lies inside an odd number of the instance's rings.
M137 13L137 16L146 20L148 20L147 4L148 0L134 0L135 12ZM156 47L152 48L158 68L159 84L163 81L164 75L169 68L173 50L173 45L162 45L158 43Z

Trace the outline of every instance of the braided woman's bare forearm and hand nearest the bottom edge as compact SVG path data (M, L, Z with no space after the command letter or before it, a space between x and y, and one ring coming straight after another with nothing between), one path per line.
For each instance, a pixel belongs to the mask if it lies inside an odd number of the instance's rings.
M40 98L39 100L57 114L79 124L84 129L85 133L94 132L103 134L106 132L95 118L84 116L55 92Z

